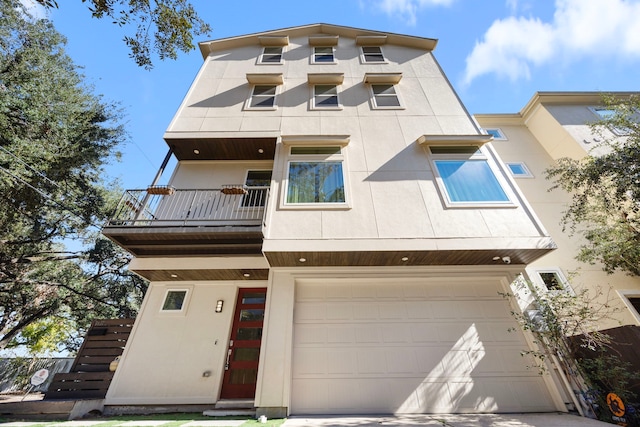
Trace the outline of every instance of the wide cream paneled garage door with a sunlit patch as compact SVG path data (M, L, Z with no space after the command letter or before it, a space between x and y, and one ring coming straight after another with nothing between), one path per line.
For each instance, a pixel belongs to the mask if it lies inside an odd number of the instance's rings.
M497 279L296 285L293 414L554 411Z

